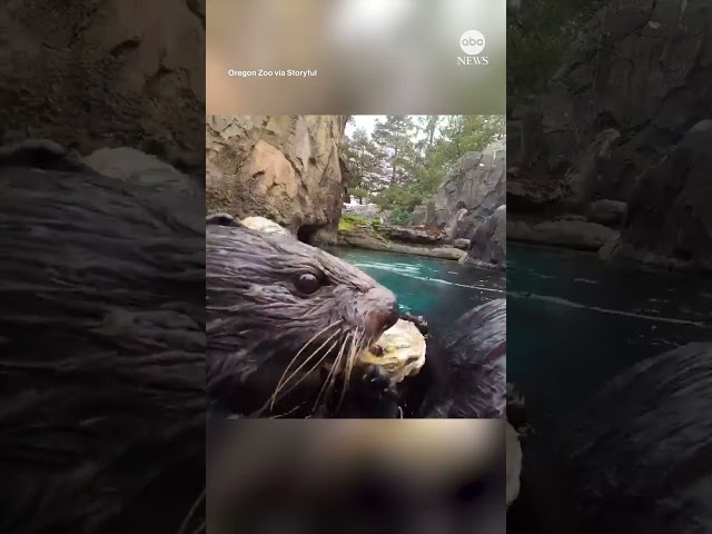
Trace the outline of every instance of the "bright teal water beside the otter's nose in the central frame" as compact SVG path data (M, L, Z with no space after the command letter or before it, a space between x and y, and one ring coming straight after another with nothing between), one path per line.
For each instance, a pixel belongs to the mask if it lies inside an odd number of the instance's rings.
M403 310L425 316L432 329L447 326L468 309L506 295L503 273L392 253L352 248L329 251L389 288Z

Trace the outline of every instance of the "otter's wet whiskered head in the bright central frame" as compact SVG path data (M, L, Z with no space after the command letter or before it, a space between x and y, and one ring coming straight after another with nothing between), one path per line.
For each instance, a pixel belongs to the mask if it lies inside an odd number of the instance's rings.
M393 293L290 237L208 226L206 267L208 389L247 409L348 374L398 318Z

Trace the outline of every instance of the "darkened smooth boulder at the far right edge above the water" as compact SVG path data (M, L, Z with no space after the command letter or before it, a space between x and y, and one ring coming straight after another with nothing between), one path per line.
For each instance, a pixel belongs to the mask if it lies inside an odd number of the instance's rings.
M635 185L616 257L712 270L712 120Z

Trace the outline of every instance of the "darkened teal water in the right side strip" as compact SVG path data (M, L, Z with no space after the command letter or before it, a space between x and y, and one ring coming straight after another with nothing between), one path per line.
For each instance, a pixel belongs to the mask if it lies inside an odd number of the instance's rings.
M508 245L507 256L507 382L540 425L633 364L712 340L710 279L564 250Z

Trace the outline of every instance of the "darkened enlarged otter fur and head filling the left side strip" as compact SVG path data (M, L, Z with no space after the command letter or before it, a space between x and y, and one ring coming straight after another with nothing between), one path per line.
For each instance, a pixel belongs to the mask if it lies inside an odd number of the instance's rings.
M0 532L177 532L205 483L204 200L48 141L0 150Z

